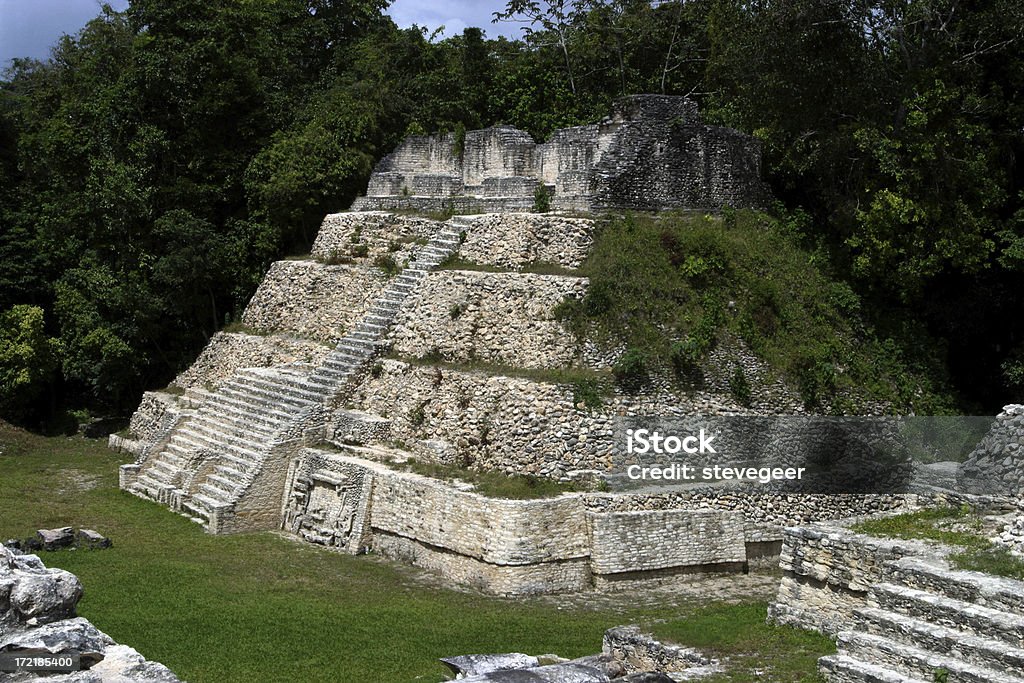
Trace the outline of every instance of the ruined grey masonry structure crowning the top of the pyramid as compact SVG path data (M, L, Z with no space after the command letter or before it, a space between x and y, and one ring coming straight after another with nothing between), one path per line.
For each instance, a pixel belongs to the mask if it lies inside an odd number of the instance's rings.
M496 126L413 135L377 164L353 210L521 211L544 187L556 209L720 209L760 206L761 147L739 131L705 125L685 97L633 95L589 126L538 144Z

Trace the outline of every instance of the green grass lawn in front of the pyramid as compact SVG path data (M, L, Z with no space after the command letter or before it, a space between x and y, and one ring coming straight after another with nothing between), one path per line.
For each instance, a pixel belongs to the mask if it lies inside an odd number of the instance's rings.
M101 441L0 426L0 537L71 525L113 539L109 550L43 553L43 559L81 578L81 615L191 683L434 682L445 678L439 656L523 651L572 657L599 651L610 627L673 624L680 616L668 607L567 610L541 600L490 598L438 588L411 567L274 533L212 537L119 490L122 458ZM735 609L705 607L672 633L685 644L714 646L716 639L709 643L700 635L713 633L711 627L700 625L731 623ZM764 626L764 604L742 609L743 633L753 635L723 640L722 652L760 646L779 632L803 637ZM824 639L809 642L820 653L830 647ZM771 680L780 683L813 671L804 651L774 648L756 658L757 668L779 672ZM752 680L748 664L735 678L720 680Z

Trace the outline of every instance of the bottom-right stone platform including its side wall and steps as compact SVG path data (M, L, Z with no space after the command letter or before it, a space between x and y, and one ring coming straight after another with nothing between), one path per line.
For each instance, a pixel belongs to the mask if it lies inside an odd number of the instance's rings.
M786 532L769 617L837 633L837 654L819 661L826 680L1024 681L1024 583L951 568L922 543Z

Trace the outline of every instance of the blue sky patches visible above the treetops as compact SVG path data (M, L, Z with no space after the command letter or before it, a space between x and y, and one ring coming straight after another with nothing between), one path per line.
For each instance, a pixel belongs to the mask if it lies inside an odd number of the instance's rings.
M128 0L108 0L124 9ZM45 58L62 34L75 34L99 13L100 0L0 0L0 68L12 57ZM388 12L395 24L413 24L430 30L444 26L445 36L478 26L487 36L512 36L517 24L492 24L492 13L505 8L505 0L395 0Z

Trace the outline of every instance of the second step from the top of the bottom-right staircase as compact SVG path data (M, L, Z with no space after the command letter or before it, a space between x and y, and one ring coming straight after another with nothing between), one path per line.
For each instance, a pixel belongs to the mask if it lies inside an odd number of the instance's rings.
M867 606L1024 647L1024 617L905 586L877 584Z

